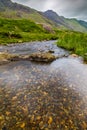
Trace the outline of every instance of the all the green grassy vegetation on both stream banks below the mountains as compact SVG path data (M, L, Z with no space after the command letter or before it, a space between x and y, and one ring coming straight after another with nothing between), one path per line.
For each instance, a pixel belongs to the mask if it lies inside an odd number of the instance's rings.
M55 40L57 45L83 56L87 61L87 34L50 30L40 24L26 19L0 19L0 44L21 43L29 41Z

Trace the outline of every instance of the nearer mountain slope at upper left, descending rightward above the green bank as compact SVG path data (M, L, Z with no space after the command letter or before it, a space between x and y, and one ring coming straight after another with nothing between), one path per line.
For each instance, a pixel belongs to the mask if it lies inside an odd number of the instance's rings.
M30 19L35 23L54 26L54 23L44 17L39 11L13 3L11 0L0 0L0 18Z

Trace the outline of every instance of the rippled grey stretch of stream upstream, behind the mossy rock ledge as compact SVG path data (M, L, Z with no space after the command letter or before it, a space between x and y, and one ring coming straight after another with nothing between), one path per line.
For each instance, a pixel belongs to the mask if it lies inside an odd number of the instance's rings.
M8 46L0 46L0 51L9 52L12 54L31 54L34 52L48 52L54 51L54 55L63 56L68 55L68 52L58 48L54 43L56 41L30 42L21 44L8 44Z

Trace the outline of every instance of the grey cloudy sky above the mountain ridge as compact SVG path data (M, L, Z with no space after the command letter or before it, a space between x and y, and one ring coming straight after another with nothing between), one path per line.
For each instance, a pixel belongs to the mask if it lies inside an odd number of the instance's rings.
M87 0L12 0L37 9L46 11L52 9L59 15L78 18L87 21Z

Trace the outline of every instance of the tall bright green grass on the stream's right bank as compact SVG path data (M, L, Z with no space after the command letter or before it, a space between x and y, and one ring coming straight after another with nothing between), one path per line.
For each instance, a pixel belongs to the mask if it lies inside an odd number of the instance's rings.
M87 61L87 34L70 31L59 31L57 45L84 57Z

